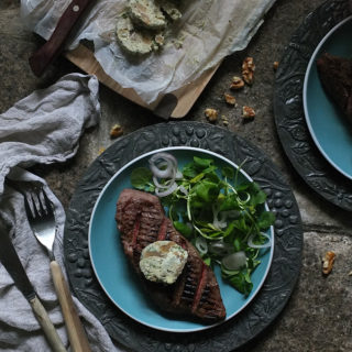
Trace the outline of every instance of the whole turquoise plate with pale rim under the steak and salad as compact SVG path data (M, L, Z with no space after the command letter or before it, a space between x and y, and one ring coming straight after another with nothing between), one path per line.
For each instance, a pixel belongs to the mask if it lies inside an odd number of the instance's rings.
M216 153L193 148L193 147L166 147L143 154L122 167L99 195L92 210L89 224L89 253L96 276L112 302L132 319L154 329L172 332L191 332L209 329L212 326L199 322L169 318L164 316L150 300L142 288L142 285L130 267L120 243L120 233L114 220L116 204L120 193L124 188L131 188L131 170L139 166L147 166L147 160L157 152L168 152L173 154L179 167L190 162L195 155L200 157L211 157L218 166L235 164ZM243 170L240 177L242 180L251 179ZM240 179L241 180L241 179ZM267 209L267 207L266 207ZM249 297L243 297L234 288L221 279L220 270L216 268L221 297L227 309L226 320L239 314L255 297L262 287L268 273L274 252L274 230L267 232L272 238L272 246L262 250L262 263L252 275L253 290Z

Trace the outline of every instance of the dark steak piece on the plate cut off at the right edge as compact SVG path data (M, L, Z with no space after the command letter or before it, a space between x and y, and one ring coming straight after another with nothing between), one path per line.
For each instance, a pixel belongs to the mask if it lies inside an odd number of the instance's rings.
M352 59L324 53L317 68L328 96L352 122Z

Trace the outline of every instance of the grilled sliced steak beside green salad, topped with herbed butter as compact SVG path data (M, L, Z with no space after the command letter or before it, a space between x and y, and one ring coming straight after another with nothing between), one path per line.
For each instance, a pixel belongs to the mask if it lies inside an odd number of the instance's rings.
M226 308L212 270L165 217L156 196L124 189L117 204L116 220L125 255L148 295L162 310L205 322L224 319ZM145 279L139 265L142 250L152 242L162 240L174 241L188 252L185 268L173 285Z

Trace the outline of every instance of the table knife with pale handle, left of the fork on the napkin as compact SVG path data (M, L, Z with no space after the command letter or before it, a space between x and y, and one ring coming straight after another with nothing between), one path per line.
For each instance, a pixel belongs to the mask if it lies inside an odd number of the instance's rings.
M10 240L8 232L0 228L0 261L12 277L15 286L23 294L26 300L30 302L32 310L38 320L53 351L66 352L63 341L57 334L54 324L50 320L50 317L40 301L33 285L31 284L20 257Z

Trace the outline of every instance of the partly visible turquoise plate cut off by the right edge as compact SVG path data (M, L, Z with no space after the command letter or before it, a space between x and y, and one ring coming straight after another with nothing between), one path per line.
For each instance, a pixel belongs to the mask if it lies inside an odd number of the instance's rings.
M304 109L309 132L326 160L352 179L352 125L324 92L317 58L328 52L352 58L352 16L336 25L315 50L305 76Z

